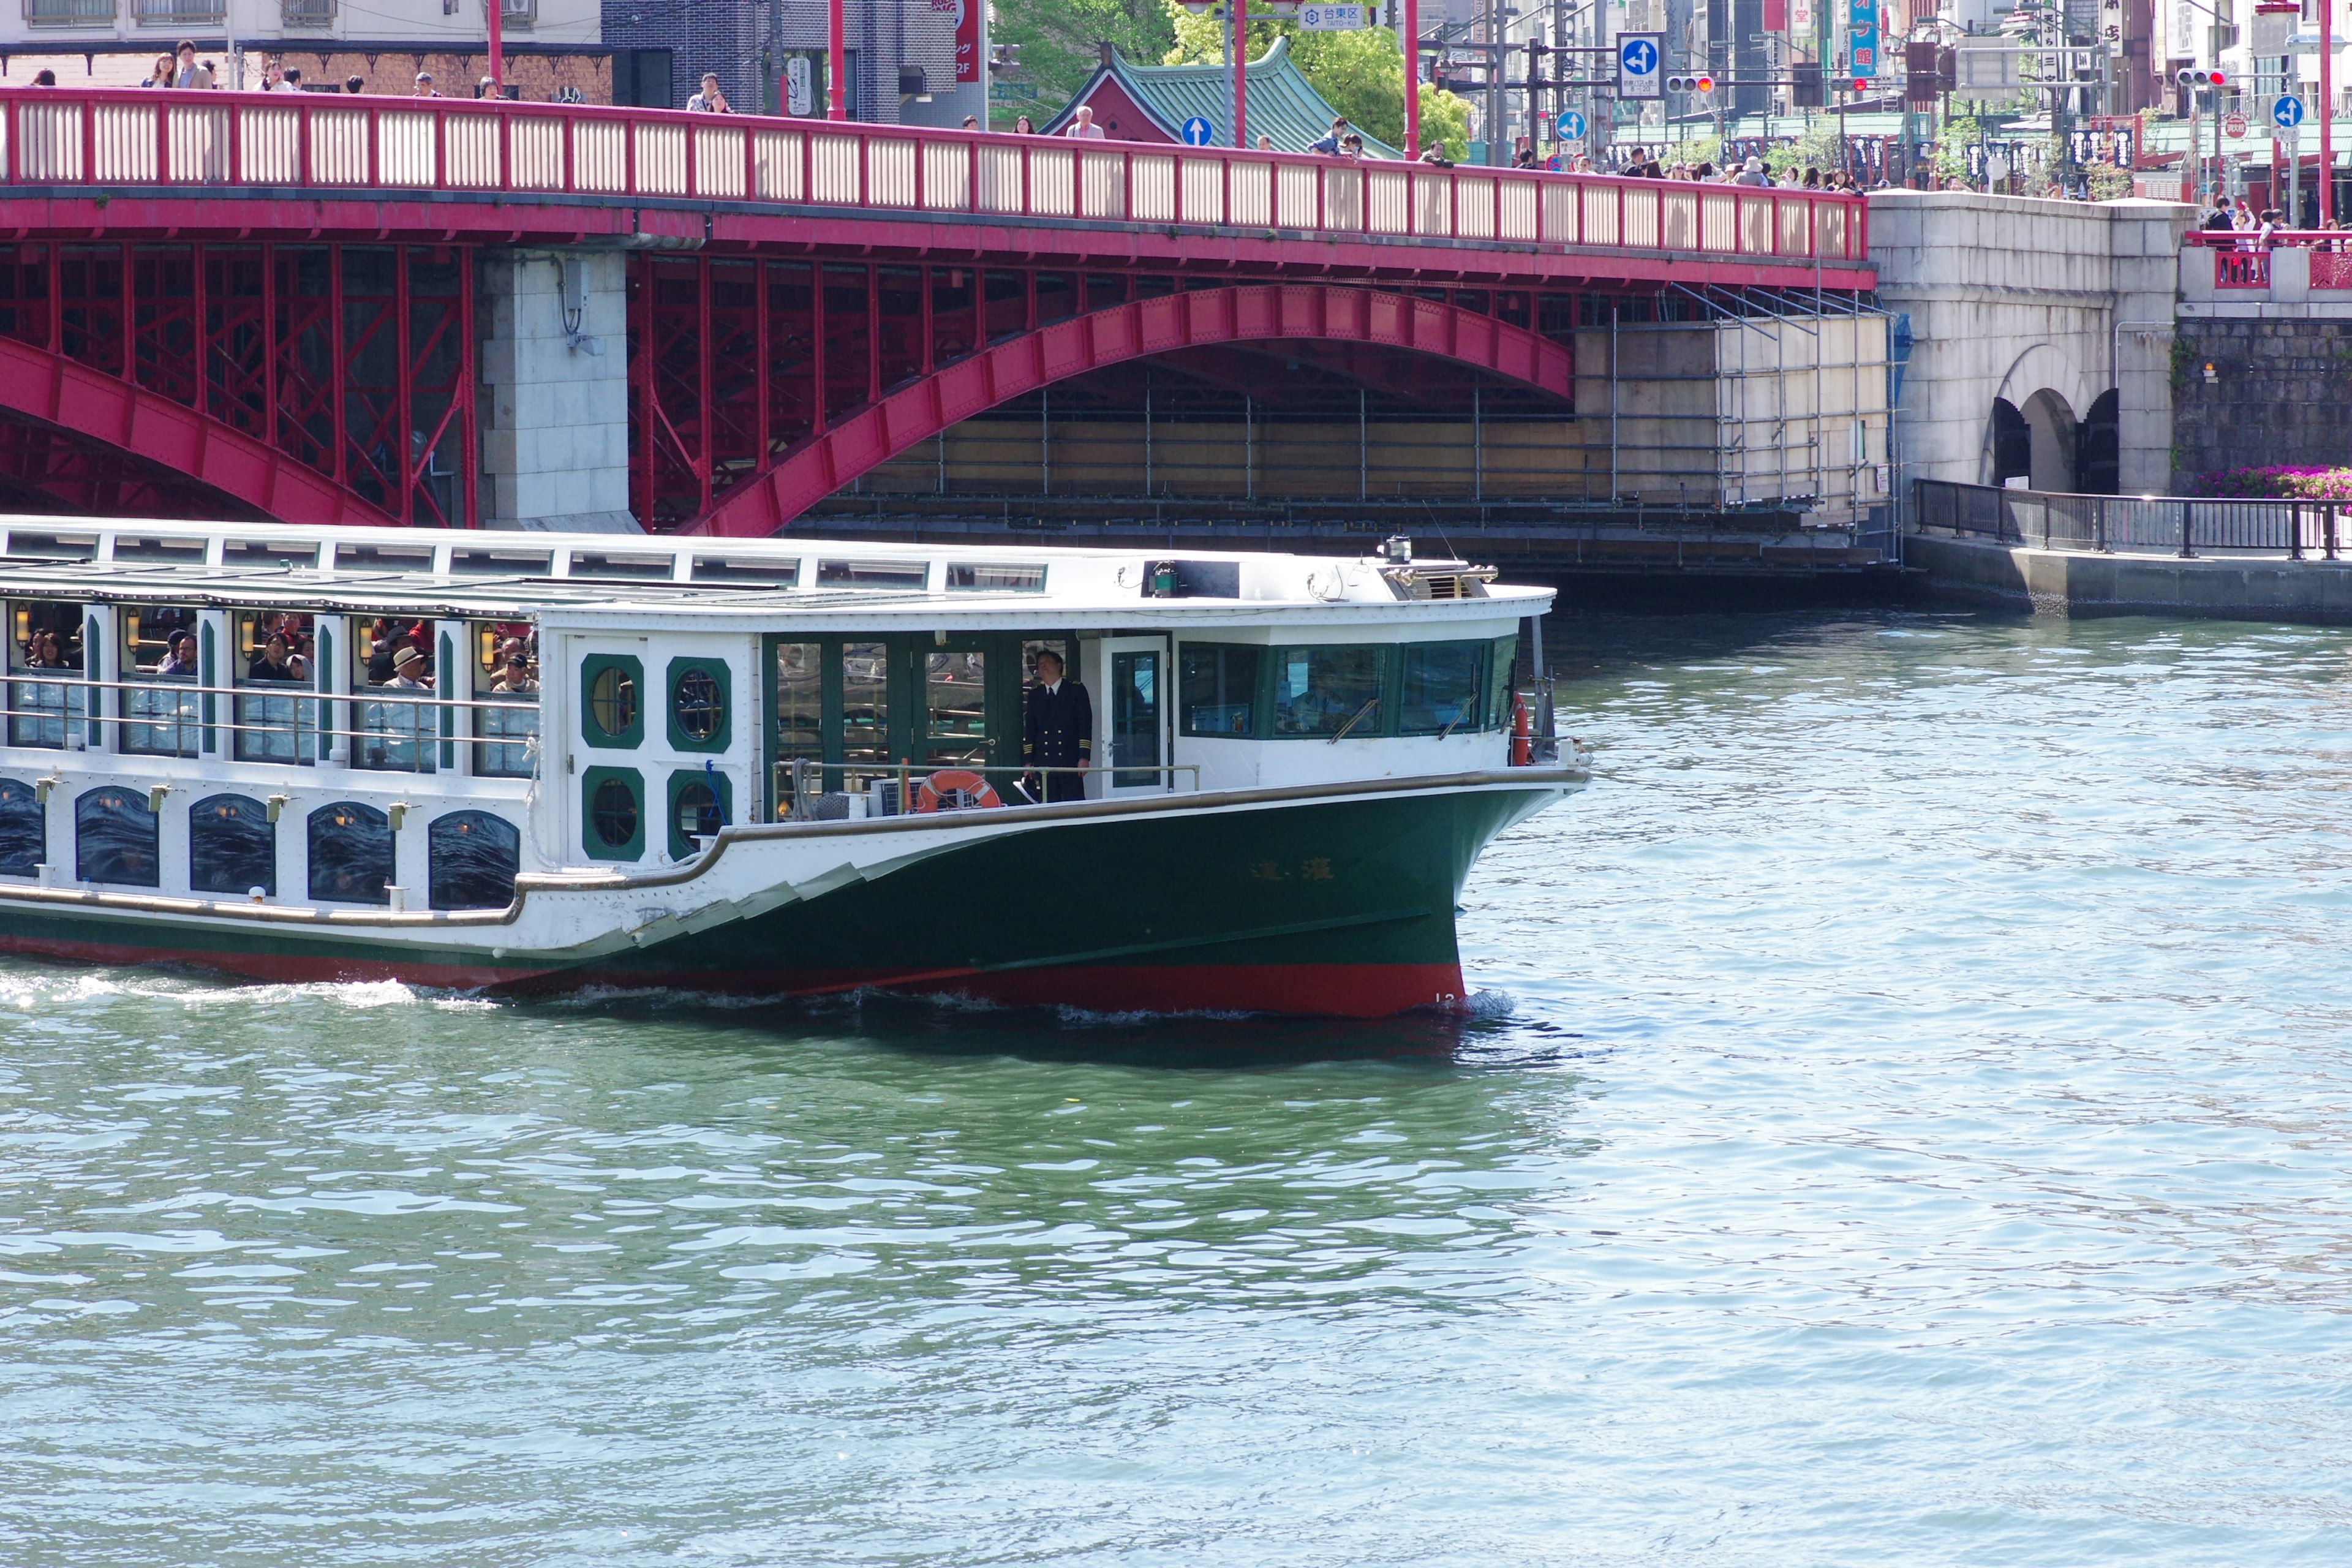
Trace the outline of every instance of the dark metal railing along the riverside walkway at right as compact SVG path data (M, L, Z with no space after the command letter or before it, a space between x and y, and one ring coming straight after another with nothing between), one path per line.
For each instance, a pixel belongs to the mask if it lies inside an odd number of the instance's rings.
M1992 484L1917 480L1917 527L1973 534L2042 550L2133 550L2340 559L2347 512L2340 501L2230 501L2211 496L2074 496Z

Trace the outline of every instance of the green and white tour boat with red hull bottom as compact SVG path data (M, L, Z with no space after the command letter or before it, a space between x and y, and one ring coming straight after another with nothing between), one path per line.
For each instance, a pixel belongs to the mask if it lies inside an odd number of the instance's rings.
M1449 1009L1472 860L1585 780L1512 679L1550 590L1402 538L0 517L0 950L68 961ZM1047 651L1094 715L1058 766Z

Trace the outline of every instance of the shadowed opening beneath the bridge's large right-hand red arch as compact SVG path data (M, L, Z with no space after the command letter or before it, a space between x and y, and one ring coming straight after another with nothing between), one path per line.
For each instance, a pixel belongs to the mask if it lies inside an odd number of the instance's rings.
M1658 421L1651 421L1658 423ZM1644 425L1646 433L1646 425ZM1108 364L976 414L814 508L969 501L1098 515L1101 501L1254 512L1291 501L1573 498L1712 503L1712 428L1621 442L1569 397L1385 343L1263 339ZM1670 473L1677 465L1689 473ZM1639 468L1642 473L1632 473ZM891 505L891 503L884 503ZM995 508L990 508L995 510Z

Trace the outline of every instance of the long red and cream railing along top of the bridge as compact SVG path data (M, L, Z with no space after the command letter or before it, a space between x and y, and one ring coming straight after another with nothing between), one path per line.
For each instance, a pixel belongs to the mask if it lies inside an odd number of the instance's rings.
M14 186L477 190L1865 261L1818 190L466 99L0 92Z

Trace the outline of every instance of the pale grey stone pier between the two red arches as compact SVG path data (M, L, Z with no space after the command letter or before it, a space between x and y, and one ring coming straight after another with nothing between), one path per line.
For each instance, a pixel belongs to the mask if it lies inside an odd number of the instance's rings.
M628 259L480 261L482 527L637 534L628 510Z

